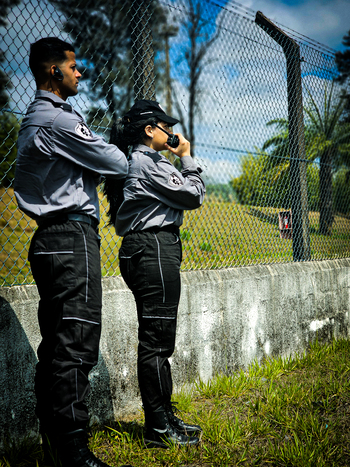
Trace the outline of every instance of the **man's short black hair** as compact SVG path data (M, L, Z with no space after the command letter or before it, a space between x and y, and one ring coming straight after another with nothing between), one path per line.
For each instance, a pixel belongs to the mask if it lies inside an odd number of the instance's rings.
M46 63L64 62L67 57L65 52L74 52L74 47L58 37L45 37L34 42L30 46L29 67L36 81L41 81L41 76Z

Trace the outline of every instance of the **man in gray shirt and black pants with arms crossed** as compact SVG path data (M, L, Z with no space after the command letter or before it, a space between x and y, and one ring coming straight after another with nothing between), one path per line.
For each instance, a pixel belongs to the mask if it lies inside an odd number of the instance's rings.
M88 374L101 335L96 186L100 175L124 178L128 163L66 102L81 77L70 44L37 41L29 66L37 91L18 137L15 194L39 226L29 250L42 335L36 413L47 461L54 455L62 467L108 467L88 449L86 432Z

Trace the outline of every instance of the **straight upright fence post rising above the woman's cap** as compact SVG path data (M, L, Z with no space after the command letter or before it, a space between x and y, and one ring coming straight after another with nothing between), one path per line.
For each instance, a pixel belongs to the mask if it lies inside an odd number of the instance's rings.
M150 19L152 0L134 0L131 6L131 41L134 97L155 99L154 52Z

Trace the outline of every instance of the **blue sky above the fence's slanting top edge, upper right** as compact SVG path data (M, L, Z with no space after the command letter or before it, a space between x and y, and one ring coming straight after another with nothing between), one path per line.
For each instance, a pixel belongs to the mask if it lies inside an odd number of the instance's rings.
M350 0L241 0L239 3L314 41L344 50L342 40L350 30Z

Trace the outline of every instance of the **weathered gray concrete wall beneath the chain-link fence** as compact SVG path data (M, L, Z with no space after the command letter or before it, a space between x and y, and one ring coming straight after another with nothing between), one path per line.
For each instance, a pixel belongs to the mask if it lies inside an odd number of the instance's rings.
M174 383L247 368L350 333L350 259L182 273ZM0 440L36 433L33 393L38 295L35 286L0 289ZM140 408L137 319L120 277L103 279L103 329L91 372L92 421Z

